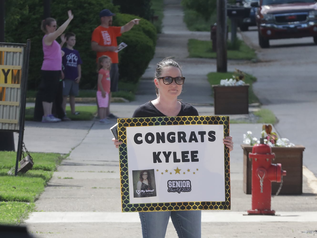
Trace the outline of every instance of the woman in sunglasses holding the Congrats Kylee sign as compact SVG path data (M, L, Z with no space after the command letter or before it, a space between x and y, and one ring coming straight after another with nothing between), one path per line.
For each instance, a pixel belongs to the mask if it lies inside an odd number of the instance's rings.
M139 106L133 117L198 116L196 108L177 99L184 80L176 61L169 58L160 61L154 76L157 98ZM112 141L117 148L122 144L115 138ZM233 150L231 136L226 136L223 144ZM139 217L144 238L164 238L170 217L178 237L201 237L201 210L139 212Z

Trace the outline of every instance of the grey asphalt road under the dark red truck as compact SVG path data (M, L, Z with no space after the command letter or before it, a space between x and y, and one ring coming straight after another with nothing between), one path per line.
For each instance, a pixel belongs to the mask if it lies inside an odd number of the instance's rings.
M312 37L271 40L270 48L258 45L256 27L242 32L259 61L249 65L258 78L253 85L263 108L272 110L279 120L278 134L306 147L303 163L317 175L315 135L317 128L317 46Z

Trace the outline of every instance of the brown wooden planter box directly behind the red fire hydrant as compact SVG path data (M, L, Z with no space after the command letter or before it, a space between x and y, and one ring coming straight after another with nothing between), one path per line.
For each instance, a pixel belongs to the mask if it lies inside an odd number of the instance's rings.
M249 160L249 153L252 153L252 146L241 145L243 149L243 191L251 194L252 184L252 160ZM272 147L275 153L273 164L280 163L282 170L286 170L287 175L283 176L283 185L279 194L302 194L303 183L303 151L305 147L296 145L295 147ZM280 183L272 183L272 194L276 194Z

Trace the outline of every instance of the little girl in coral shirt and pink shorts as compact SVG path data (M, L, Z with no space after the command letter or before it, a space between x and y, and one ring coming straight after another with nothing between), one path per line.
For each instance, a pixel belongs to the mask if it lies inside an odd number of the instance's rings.
M110 65L111 59L107 55L102 55L98 58L98 90L97 100L99 106L99 116L101 123L110 123L107 120L107 108L109 105L110 93Z

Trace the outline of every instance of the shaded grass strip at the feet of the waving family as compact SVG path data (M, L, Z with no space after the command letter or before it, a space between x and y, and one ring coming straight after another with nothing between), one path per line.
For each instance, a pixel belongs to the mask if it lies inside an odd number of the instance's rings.
M77 106L75 105L76 111L78 111L79 115L72 115L70 111L70 106L66 106L66 114L72 119L72 121L90 121L97 114L97 106ZM25 120L33 121L34 116L34 107L26 107L25 108Z

